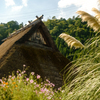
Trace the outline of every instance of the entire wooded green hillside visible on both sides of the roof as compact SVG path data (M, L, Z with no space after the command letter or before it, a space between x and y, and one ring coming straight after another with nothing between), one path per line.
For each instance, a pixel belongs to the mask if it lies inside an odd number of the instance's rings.
M90 27L87 27L86 22L81 22L81 18L72 17L69 19L60 18L57 19L55 16L52 17L52 19L48 19L47 21L44 21L45 25L50 30L50 34L55 41L55 44L57 45L57 48L59 51L70 60L73 60L77 57L75 55L76 53L80 52L80 49L71 49L68 47L68 45L64 42L63 39L59 38L58 36L61 33L67 33L79 41L81 41L83 44L93 37L95 35L93 29ZM2 43L2 39L8 37L9 33L12 33L13 31L21 28L23 26L23 23L18 23L17 21L10 21L7 23L1 23L0 24L0 44Z

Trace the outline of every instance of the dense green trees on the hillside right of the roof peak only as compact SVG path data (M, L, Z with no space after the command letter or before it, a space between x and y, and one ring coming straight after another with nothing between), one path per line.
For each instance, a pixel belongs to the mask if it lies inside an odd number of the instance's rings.
M45 25L49 28L50 34L53 37L53 40L55 41L59 51L70 60L77 58L78 56L75 55L81 50L75 50L74 48L70 49L68 45L58 36L61 33L67 33L78 39L80 42L82 42L82 44L85 44L87 40L95 36L95 33L93 29L87 27L86 22L81 21L81 18L78 16L73 16L73 18L69 18L67 20L64 18L56 19L54 17L53 19L48 19L44 22Z

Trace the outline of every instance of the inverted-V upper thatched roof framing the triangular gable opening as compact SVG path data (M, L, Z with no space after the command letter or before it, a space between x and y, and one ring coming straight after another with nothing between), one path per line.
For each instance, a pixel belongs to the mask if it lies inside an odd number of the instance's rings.
M35 21L29 23L27 26L16 30L11 36L3 39L3 43L0 45L0 59L6 55L7 51L16 43L25 43L32 36L35 35L35 32L39 30L41 42L48 47L51 47L52 50L58 51L47 27L41 21L41 17Z

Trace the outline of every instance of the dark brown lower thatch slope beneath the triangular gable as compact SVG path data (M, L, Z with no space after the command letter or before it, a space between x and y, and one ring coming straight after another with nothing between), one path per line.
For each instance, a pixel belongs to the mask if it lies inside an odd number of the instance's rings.
M0 62L0 78L9 72L23 70L23 64L28 68L27 74L35 72L42 78L50 79L56 87L61 87L63 80L60 71L69 60L59 52L27 45L13 45L8 54Z

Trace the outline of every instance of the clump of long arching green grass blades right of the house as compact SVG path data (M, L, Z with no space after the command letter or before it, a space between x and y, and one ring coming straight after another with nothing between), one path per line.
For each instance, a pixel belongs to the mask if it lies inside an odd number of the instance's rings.
M100 36L85 44L65 74L62 100L100 100Z

